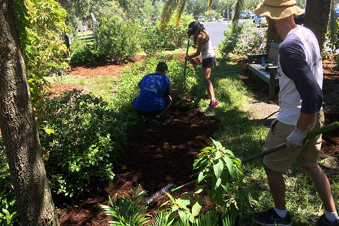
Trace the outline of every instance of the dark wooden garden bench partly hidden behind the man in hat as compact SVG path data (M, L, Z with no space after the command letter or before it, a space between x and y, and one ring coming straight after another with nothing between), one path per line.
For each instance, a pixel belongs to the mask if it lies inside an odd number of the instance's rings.
M279 84L279 77L277 76L277 59L279 54L279 44L271 42L268 53L248 55L248 77L252 74L259 77L260 81L268 83L270 88L269 99L273 100L275 97L275 86ZM273 66L262 66L262 57L265 57L266 64L273 64ZM255 60L255 64L253 61Z

